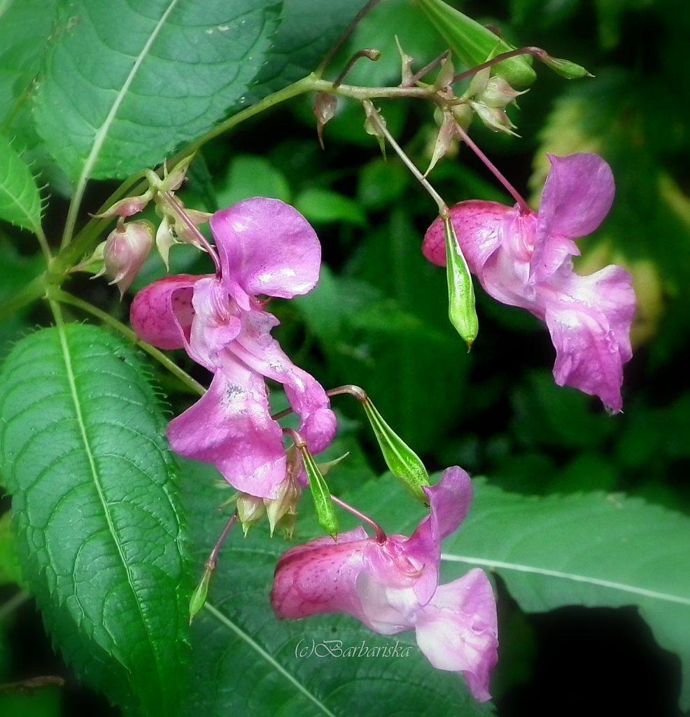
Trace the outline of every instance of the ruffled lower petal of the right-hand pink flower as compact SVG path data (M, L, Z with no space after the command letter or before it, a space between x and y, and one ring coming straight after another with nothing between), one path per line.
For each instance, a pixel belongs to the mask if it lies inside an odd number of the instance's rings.
M632 356L631 275L608 266L590 276L555 277L551 288L545 318L556 348L556 383L598 396L612 412L620 411L623 364Z

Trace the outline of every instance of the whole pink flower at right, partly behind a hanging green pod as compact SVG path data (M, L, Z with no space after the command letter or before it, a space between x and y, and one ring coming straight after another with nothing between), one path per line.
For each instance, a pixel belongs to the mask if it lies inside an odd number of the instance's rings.
M598 396L618 412L623 407L623 364L632 355L631 276L613 265L580 276L571 258L580 254L573 239L593 232L608 214L613 174L595 154L549 158L538 214L476 200L456 204L451 219L484 290L546 322L556 348L556 383ZM423 252L434 264L446 265L440 219L426 232Z

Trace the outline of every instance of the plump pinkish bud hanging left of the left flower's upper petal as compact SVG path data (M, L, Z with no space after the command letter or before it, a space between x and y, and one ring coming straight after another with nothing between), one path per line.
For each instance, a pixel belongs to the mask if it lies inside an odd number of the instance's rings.
M141 219L118 226L103 247L105 273L117 284L120 296L128 290L153 247L153 224Z

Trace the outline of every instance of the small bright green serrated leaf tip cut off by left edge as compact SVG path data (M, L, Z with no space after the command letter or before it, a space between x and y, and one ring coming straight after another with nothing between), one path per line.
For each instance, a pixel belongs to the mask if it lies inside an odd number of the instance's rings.
M41 196L29 167L0 134L0 219L37 232L41 226Z

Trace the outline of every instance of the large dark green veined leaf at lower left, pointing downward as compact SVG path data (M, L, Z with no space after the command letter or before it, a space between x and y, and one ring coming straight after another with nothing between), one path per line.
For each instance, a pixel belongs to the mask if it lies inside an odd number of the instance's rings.
M77 674L174 715L185 686L185 523L165 419L133 349L80 324L16 344L0 372L0 472L24 576Z

